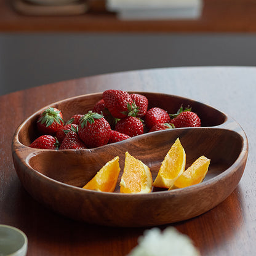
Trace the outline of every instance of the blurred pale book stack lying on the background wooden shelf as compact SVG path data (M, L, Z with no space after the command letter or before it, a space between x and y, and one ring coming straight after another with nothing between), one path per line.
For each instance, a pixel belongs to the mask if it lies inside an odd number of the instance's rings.
M196 19L202 0L107 0L106 9L122 20Z

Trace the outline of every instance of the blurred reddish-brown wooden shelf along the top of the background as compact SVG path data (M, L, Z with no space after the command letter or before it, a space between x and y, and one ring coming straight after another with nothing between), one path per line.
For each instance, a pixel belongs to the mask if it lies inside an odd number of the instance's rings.
M0 0L1 32L105 33L255 33L255 0L204 0L198 20L122 21L104 9L103 0L90 0L86 14L29 16L19 14L12 0Z

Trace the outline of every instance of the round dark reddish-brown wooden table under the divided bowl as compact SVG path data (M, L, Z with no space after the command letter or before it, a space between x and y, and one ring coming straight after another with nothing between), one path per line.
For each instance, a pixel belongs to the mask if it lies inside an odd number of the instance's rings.
M222 110L241 124L249 141L247 166L233 193L206 214L173 226L190 236L202 255L254 255L255 82L254 67L162 68L98 75L1 96L0 223L17 226L26 233L28 256L127 255L148 228L87 225L46 209L23 189L17 178L12 162L12 135L34 111L63 98L110 88L164 92Z

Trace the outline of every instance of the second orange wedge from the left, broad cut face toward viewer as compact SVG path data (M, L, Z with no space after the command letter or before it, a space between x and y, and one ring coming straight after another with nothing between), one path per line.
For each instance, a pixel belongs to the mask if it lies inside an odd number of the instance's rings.
M124 173L121 177L121 193L150 193L152 190L150 168L126 152Z

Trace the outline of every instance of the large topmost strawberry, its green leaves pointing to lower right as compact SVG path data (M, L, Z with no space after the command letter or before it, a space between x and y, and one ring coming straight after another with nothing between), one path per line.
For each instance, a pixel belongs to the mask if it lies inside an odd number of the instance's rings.
M123 90L105 90L103 100L114 118L135 116L138 111L130 94Z

